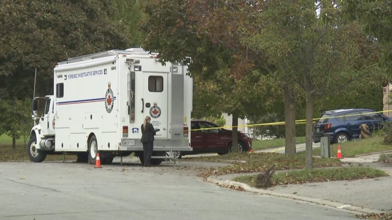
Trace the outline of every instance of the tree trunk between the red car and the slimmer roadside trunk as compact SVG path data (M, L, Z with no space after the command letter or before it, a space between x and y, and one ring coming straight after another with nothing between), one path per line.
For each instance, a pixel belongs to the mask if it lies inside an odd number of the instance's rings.
M283 87L284 94L284 121L285 121L285 147L284 154L296 154L296 92L295 89Z

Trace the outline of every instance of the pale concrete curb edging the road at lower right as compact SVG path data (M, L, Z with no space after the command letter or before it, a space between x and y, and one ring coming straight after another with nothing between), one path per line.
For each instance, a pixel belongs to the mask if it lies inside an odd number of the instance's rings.
M236 182L236 181L232 181L232 180L219 180L217 178L217 176L208 176L207 181L215 183L215 184L217 184L219 186L223 186L223 187L227 187L227 186L240 187L247 192L255 192L255 193L271 195L271 196L276 196L276 197L290 198L293 200L300 200L300 201L315 203L317 205L326 205L326 206L330 206L330 207L334 207L334 208L346 209L354 214L370 214L370 213L383 213L384 212L384 211L380 211L380 210L376 210L376 209L370 209L370 208L358 207L358 206L354 206L354 205L350 205L350 204L344 204L344 203L340 203L337 201L325 200L325 199L320 199L320 198L311 198L311 197L305 197L305 196L299 196L299 195L293 195L293 194L279 193L279 192L274 192L274 191L271 191L268 189L253 188L253 187L250 187L248 184L245 184L242 182Z

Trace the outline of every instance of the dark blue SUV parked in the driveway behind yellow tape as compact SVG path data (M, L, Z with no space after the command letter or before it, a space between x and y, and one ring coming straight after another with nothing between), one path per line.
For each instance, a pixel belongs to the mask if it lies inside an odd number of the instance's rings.
M367 124L370 133L382 128L384 122L392 118L371 109L338 109L326 111L313 126L313 140L320 142L321 137L330 135L331 143L342 143L359 138L361 124Z

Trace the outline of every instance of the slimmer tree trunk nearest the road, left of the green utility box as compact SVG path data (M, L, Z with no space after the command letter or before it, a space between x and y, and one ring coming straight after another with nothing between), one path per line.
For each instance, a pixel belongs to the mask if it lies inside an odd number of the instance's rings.
M314 104L314 94L313 92L308 92L306 94L306 169L313 169L313 140L312 140L312 131L313 131L313 104Z

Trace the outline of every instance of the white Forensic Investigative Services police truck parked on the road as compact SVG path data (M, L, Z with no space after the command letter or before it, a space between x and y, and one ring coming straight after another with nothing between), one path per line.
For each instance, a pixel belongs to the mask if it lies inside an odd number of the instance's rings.
M95 164L99 152L101 163L109 164L133 152L143 163L140 127L147 115L160 129L152 164L160 164L166 152L192 150L187 66L162 64L158 54L139 48L111 50L59 62L53 80L53 95L33 99L31 161L76 154ZM45 101L40 117L39 100Z

